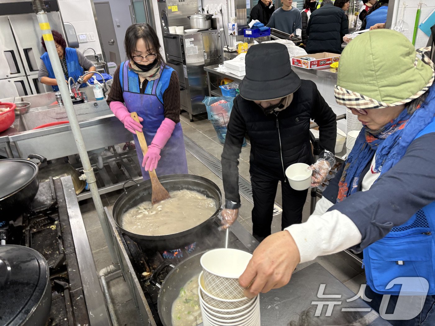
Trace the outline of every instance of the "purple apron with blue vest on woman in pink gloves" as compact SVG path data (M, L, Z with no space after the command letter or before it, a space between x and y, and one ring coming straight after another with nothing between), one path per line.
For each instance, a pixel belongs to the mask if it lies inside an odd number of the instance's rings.
M144 119L141 122L147 145L150 146L153 138L164 120L164 104L162 95L167 89L171 78L172 68L160 70L160 77L157 80L149 81L145 94L139 93L139 78L137 73L128 69L128 61L121 63L120 80L123 87L123 97L128 112L137 112L137 115ZM152 87L152 88L151 88ZM160 97L160 98L159 98ZM137 158L141 164L142 176L144 180L150 179L150 175L142 167L144 155L137 136L133 135L136 145ZM184 150L184 138L181 124L177 123L172 132L171 138L167 141L160 153L161 159L157 165L157 176L168 174L187 174L187 159Z

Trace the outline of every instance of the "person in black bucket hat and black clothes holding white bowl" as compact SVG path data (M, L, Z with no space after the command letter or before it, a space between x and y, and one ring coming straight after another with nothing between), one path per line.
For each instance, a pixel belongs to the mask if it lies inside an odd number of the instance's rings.
M264 60L267 57L269 60ZM293 163L314 163L310 143L310 120L319 125L320 158L311 186L318 186L335 164L337 133L335 113L311 80L300 80L291 70L287 47L279 43L253 45L246 54L246 76L234 99L222 153L225 209L224 228L238 216L238 159L245 134L251 140L250 174L254 208L252 232L259 240L271 234L278 182L282 189L284 229L302 221L307 190L294 190L285 176ZM261 70L258 67L262 67Z

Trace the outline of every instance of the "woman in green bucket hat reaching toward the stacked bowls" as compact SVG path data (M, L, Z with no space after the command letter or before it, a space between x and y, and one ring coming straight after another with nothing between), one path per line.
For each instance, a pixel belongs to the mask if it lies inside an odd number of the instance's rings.
M253 281L248 296L284 286L298 263L350 248L363 252L363 299L371 308L394 326L435 324L435 71L428 49L415 50L402 33L385 29L346 46L335 99L363 129L308 221L255 249L239 278L243 287Z

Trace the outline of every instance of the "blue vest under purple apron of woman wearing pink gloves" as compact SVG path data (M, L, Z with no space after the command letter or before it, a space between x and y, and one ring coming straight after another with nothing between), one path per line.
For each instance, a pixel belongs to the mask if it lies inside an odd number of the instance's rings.
M123 61L120 67L124 67ZM128 91L132 93L140 93L139 90L139 76L134 71L127 69L127 78L128 78ZM145 94L151 95L153 92L154 83L158 82L156 87L156 96L161 103L163 103L163 93L167 90L169 86L169 82L171 80L171 75L174 69L169 66L163 67L160 70L160 78L158 80L151 80L147 83L147 88L145 89ZM121 88L124 89L124 78L123 78L124 69L119 70L119 80L121 82Z

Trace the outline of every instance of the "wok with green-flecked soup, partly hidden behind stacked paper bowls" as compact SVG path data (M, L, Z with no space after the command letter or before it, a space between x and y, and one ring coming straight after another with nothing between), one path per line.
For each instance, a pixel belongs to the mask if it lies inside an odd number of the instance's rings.
M161 266L172 266L170 263L167 263L165 260L151 276L150 282L160 288L157 298L157 310L164 326L172 325L172 303L180 294L181 287L192 277L198 276L201 273L200 259L206 252L207 250L201 251L184 259L167 274L161 285L156 281L157 274L163 269Z

